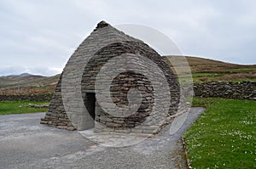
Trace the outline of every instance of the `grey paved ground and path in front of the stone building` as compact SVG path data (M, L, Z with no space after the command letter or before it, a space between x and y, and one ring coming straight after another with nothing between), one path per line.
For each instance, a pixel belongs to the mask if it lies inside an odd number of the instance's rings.
M79 132L40 125L44 113L0 115L0 168L184 168L180 137L204 111L192 108L175 134L127 147L104 147Z

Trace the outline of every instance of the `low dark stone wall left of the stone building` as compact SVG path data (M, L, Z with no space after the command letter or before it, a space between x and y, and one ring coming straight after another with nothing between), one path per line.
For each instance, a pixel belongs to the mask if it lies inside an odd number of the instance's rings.
M50 101L52 93L27 95L0 95L1 101Z

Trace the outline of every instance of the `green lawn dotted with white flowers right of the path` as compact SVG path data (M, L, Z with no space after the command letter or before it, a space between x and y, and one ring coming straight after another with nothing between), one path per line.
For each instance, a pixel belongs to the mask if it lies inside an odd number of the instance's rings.
M184 133L192 168L256 168L256 101L195 98L207 110Z

